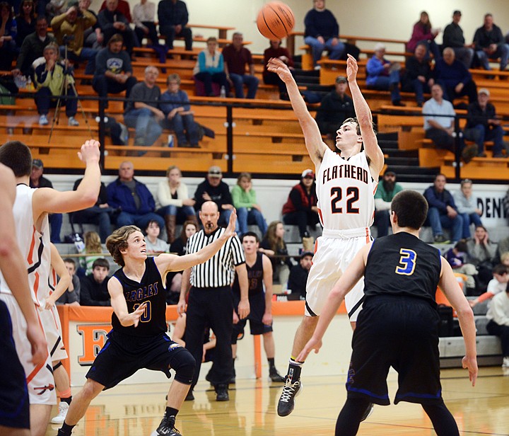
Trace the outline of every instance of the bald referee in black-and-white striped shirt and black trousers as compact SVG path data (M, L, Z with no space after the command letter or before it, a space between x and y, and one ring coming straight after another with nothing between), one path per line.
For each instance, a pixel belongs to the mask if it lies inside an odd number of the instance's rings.
M218 227L219 211L216 203L204 202L199 212L204 226L187 241L187 254L196 253L201 248L218 239L225 231ZM232 214L230 219L235 219ZM194 400L192 389L196 386L201 357L203 354L204 330L210 327L216 335L216 352L211 368L210 382L216 391L216 401L228 401L228 381L233 376L233 359L230 339L233 330L233 292L231 285L237 272L240 284L240 303L238 314L244 319L250 312L247 297L247 270L244 251L237 236L230 238L209 260L188 268L182 275L182 287L177 310L185 311L186 294L187 323L185 331L186 348L196 360L196 369L191 389L186 400Z

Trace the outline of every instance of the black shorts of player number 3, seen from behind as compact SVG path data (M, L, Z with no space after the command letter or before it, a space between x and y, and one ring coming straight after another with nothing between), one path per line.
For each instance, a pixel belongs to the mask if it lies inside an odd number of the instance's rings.
M442 401L439 321L436 309L423 299L366 298L353 332L348 397L387 406L387 374L393 367L398 372L395 404Z

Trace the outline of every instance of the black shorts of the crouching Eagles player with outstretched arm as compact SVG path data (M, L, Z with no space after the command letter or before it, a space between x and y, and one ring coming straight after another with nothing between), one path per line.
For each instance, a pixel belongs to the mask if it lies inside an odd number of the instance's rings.
M170 368L180 366L178 361L183 357L182 353L189 353L166 333L139 337L112 330L107 337L86 374L87 379L103 384L105 389L116 386L142 368L162 371L169 379Z

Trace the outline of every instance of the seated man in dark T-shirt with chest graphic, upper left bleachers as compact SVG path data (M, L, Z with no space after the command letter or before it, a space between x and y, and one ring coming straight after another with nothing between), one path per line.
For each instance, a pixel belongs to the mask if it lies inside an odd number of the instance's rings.
M131 89L136 85L136 77L132 75L131 57L122 50L123 41L122 35L115 33L107 42L107 47L100 50L95 57L92 86L100 97L126 91L126 98L129 98ZM105 100L105 108L107 107L108 102Z

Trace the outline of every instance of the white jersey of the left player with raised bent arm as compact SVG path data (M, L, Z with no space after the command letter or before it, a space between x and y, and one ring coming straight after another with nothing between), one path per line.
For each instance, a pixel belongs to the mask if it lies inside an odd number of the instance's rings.
M16 236L28 272L28 285L32 299L37 306L44 306L49 292L48 279L51 270L51 251L49 248L49 221L47 214L42 219L41 232L35 229L32 210L34 188L18 185L16 201L13 206ZM0 273L0 292L11 294L4 277Z

